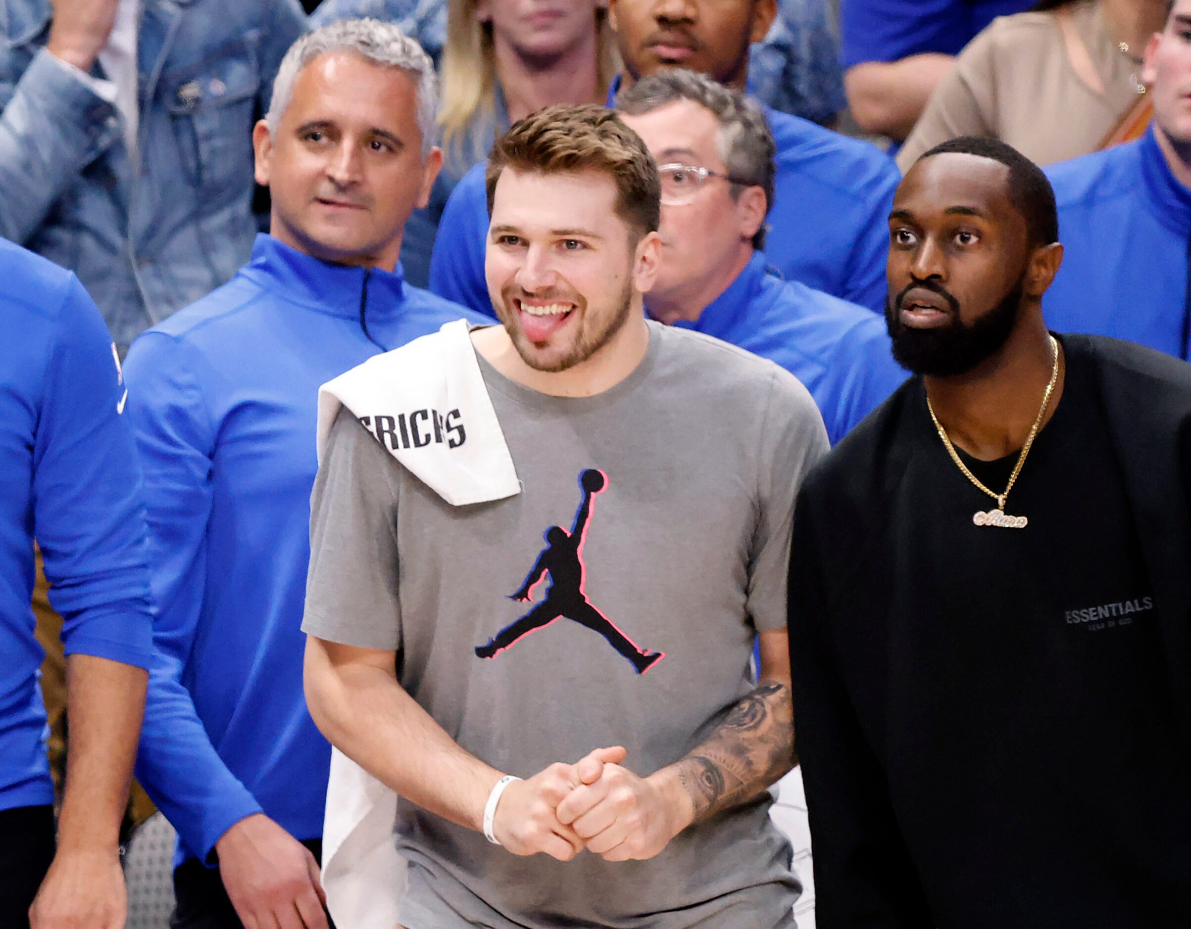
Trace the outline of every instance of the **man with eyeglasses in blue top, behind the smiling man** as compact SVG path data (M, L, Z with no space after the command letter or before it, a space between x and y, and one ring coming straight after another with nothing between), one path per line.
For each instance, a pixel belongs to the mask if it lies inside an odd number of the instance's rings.
M621 94L662 182L662 262L646 295L662 322L785 368L842 439L906 378L874 313L768 271L773 137L761 108L704 74L659 71Z

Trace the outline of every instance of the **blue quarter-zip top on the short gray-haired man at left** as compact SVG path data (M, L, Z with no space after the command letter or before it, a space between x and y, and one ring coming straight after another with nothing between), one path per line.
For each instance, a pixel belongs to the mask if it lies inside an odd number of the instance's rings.
M395 272L258 236L227 284L148 331L125 364L160 616L137 777L206 859L264 812L323 833L331 748L306 711L301 633L318 388L464 308Z

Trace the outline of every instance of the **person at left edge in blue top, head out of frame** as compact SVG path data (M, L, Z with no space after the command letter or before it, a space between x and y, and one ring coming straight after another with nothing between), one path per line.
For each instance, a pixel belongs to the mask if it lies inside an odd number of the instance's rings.
M123 929L119 830L152 647L127 393L73 274L0 239L0 925L27 927L32 904L38 929ZM68 670L57 854L45 653L30 609L35 536Z

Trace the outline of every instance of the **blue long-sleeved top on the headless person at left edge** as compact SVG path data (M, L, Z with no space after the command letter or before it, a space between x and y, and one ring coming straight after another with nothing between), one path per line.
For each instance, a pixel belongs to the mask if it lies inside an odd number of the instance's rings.
M67 655L149 667L141 472L112 338L68 271L0 239L0 810L54 803L33 539ZM4 880L0 877L0 880Z

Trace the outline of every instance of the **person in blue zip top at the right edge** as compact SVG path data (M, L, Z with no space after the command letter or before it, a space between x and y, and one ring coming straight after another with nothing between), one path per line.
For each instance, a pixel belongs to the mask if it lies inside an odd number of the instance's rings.
M1061 332L1114 335L1191 358L1191 0L1146 48L1146 134L1047 170L1062 268L1042 300Z

